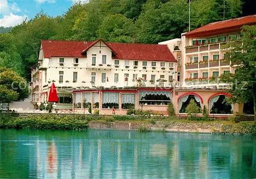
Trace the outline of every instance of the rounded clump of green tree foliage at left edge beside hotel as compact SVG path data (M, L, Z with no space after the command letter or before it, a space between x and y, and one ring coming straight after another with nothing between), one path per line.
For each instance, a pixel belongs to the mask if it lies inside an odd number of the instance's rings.
M0 99L3 103L29 96L27 81L10 68L0 67Z

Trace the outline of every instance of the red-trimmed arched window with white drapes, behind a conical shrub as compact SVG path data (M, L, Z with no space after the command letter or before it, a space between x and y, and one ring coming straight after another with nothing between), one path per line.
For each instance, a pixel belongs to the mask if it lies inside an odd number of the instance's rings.
M198 107L202 107L201 98L194 94L188 94L185 96L182 96L179 99L179 113L186 113L187 105L189 104L190 100L194 99L197 103Z

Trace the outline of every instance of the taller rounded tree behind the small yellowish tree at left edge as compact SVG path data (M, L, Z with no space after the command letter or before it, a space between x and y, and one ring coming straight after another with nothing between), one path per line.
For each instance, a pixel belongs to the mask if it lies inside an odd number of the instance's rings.
M27 81L10 68L0 68L0 85L17 92L17 100L23 100L29 96Z

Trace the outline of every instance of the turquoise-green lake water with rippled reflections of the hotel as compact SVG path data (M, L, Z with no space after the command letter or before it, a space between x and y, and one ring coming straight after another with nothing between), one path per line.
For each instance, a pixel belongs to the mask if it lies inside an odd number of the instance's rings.
M0 178L256 178L256 138L0 130Z

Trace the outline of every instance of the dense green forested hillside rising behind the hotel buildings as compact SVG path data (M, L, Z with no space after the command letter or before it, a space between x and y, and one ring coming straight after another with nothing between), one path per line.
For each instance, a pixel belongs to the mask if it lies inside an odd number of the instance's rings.
M242 0L191 1L191 29L242 14ZM29 78L41 39L158 43L188 31L188 0L90 0L62 16L44 12L0 34L0 67L12 67Z

